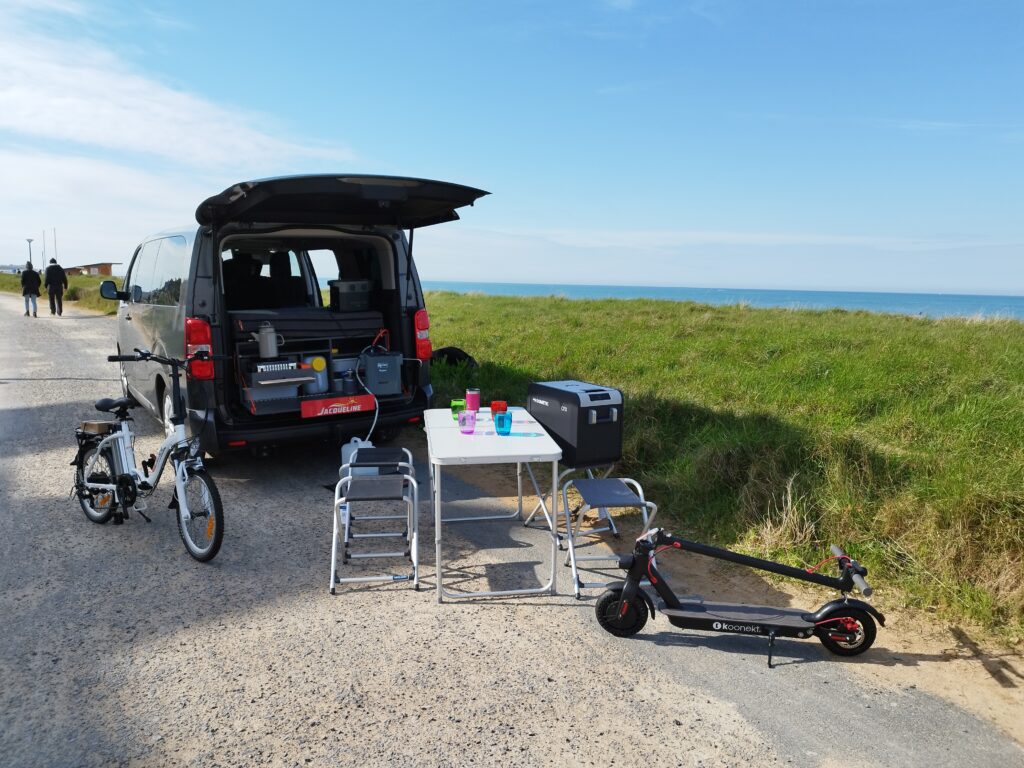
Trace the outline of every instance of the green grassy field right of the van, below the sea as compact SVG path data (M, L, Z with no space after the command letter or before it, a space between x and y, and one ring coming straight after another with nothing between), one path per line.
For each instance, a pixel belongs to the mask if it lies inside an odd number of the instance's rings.
M438 401L530 381L626 395L622 469L663 523L814 563L888 599L1024 632L1024 324L431 293Z

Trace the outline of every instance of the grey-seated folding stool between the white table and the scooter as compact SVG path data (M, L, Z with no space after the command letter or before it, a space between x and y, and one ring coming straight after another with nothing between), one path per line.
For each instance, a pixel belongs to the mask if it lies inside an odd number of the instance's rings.
M577 512L575 530L572 528L572 511L569 509L569 486L574 487L583 500L583 504ZM581 536L583 518L591 509L600 510L599 519L605 519L606 524L602 527L590 528L582 535L589 537L608 530L617 538L618 529L607 511L615 508L639 509L643 517L644 531L650 527L657 515L657 505L644 499L640 483L629 477L586 477L568 480L562 485L562 509L565 510L565 530L569 550L565 564L572 568L572 588L578 600L580 599L580 590L606 587L609 584L608 582L582 581L579 562L585 560L613 560L617 562L618 560L618 555L613 553L606 555L578 555L575 553L577 539ZM648 510L650 511L649 515Z

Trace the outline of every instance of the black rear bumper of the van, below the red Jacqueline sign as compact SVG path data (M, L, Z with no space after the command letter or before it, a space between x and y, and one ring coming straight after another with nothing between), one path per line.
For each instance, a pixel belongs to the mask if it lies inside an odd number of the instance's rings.
M409 406L388 408L387 411L382 412L377 420L376 429L402 426L412 419L422 419L423 412L427 408L426 394L421 390ZM326 419L294 421L287 424L270 425L249 422L227 425L222 423L219 418L204 418L202 411L188 411L190 434L200 434L200 445L204 451L212 454L243 447L243 445L267 445L323 439L336 439L340 442L352 435L366 434L373 422L374 415L371 412L369 414L350 414Z

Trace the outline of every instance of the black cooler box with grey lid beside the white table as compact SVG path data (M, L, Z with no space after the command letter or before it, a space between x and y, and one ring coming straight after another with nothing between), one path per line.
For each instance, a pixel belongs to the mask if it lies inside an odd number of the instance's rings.
M585 381L536 381L526 410L562 450L566 467L614 464L623 455L623 393Z

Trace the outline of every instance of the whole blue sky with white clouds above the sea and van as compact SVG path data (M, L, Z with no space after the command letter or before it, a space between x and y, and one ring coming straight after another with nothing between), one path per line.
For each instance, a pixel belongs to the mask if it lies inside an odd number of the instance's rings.
M0 262L346 171L493 193L426 280L1024 294L1022 94L1016 0L0 0Z

